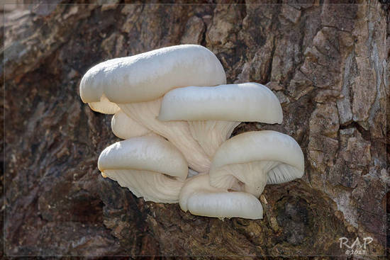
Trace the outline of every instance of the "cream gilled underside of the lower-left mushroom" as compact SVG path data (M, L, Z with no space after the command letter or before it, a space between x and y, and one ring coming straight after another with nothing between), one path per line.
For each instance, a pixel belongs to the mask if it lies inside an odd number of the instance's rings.
M102 174L128 188L138 198L157 203L177 203L184 184L184 181L154 171L110 169Z

